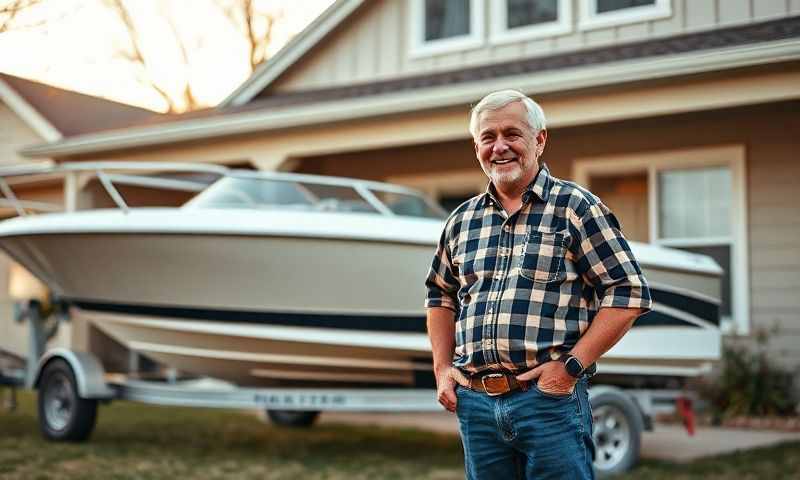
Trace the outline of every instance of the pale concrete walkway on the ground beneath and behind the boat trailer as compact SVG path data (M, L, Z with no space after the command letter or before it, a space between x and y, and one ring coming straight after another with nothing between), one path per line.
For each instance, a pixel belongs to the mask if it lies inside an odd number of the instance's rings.
M458 434L455 415L442 413L335 413L320 416L320 423L378 425L415 428L439 433ZM642 458L687 462L701 457L732 453L757 447L800 440L800 432L699 428L694 436L677 425L656 425L642 435Z

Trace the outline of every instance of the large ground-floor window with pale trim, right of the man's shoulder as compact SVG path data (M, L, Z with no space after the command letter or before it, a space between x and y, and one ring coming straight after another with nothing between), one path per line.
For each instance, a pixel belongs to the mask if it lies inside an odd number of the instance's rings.
M740 145L578 159L575 180L633 240L712 257L725 271L722 331L750 331L745 151ZM647 212L632 208L642 204Z

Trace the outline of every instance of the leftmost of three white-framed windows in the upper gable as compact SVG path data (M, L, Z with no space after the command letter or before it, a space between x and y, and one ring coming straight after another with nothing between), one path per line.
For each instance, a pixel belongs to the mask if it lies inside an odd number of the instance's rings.
M409 1L411 57L466 50L483 44L483 1Z

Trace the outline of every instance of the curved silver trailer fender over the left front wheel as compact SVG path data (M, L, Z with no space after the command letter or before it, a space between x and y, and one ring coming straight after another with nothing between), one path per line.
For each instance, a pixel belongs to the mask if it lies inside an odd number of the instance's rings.
M97 358L90 353L77 352L68 348L54 348L45 353L36 367L36 374L33 375L33 384L28 385L28 387L38 389L45 367L59 358L67 362L75 374L78 395L81 398L98 400L114 398L114 390L106 384L106 372Z

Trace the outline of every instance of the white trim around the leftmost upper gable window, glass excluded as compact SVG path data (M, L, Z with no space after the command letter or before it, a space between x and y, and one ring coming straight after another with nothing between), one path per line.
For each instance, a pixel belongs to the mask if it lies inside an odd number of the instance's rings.
M425 0L409 1L408 56L411 59L431 57L452 52L480 48L484 44L483 0L470 1L469 35L425 41Z

